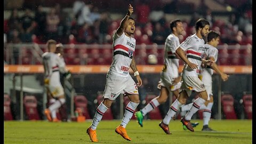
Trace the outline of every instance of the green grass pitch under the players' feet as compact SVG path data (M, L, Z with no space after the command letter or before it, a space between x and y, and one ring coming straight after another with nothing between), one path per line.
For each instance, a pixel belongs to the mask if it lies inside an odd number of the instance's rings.
M171 121L169 127L171 135L167 135L158 126L161 120L144 121L139 127L135 120L126 126L127 133L132 141L126 141L115 133L115 128L121 120L101 121L97 127L98 143L252 143L252 120L211 120L210 127L216 132L202 132L202 120L195 132L182 129L182 124L177 119ZM83 123L47 121L5 121L4 143L92 143L86 129L91 125L91 120Z

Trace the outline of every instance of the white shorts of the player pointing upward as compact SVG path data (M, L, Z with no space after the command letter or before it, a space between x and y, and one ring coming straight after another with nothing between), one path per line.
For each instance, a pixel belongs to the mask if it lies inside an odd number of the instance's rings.
M115 100L121 93L123 93L124 96L134 94L139 95L138 86L130 75L127 77L122 77L107 74L103 98Z

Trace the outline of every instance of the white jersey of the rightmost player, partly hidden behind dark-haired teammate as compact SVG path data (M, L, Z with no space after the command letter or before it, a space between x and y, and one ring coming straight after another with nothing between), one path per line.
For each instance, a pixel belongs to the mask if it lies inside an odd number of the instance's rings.
M209 57L214 58L214 62L218 59L218 50L216 47L205 44L205 53L203 56L203 59L209 60ZM213 69L209 66L201 67L200 74L202 75L202 82L204 85L212 85L212 75L213 75Z

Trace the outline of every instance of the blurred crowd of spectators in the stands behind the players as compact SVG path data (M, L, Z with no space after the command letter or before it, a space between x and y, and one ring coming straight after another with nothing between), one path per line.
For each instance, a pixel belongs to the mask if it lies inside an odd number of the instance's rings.
M250 53L252 49L252 7L247 6L247 3L237 7L236 12L228 14L229 19L226 21L215 19L215 16L218 15L213 14L204 0L197 7L191 6L189 3L180 3L180 1L176 0L166 1L164 5L161 3L162 1L159 1L158 4L157 2L134 1L136 3L134 5L134 14L132 15L136 21L134 37L137 39L137 45L141 45L138 52L140 57L138 59L143 60L139 64L148 64L147 56L149 54L155 54L158 59L157 63L162 63L161 53L163 51L158 50L158 45L163 45L165 38L171 33L170 21L166 20L166 14L178 14L180 11L184 12L188 9L192 9L195 12L189 15L190 19L181 19L185 31L179 37L180 41L195 33L194 25L197 19L205 18L210 21L212 30L220 32L220 45L224 48L227 48L228 45L236 45L237 47L237 50L221 50L223 56L222 63L231 61L228 57L230 54ZM155 5L154 8L153 5ZM75 1L73 6L70 5L71 13L63 11L63 7L58 3L47 8L49 10L45 11L43 5L38 5L35 10L13 9L11 16L4 20L4 41L14 44L45 44L48 39L55 39L62 44L91 44L95 46L98 44L112 44L113 33L125 14L118 13L122 17L113 20L111 19L110 11L101 9L101 7L99 9L98 5L90 1ZM146 49L147 45L151 45L149 53ZM250 48L239 51L241 45L247 45ZM81 55L79 59L76 59L76 56L70 58L72 63L68 61L68 64L73 65L105 65L109 63L108 59L111 61L112 58L110 50L67 49L66 52L69 55L71 53ZM92 56L95 58L87 59L86 61L81 60L81 58L87 58L86 53L91 55L95 53L95 56ZM100 57L101 54L104 57ZM239 57L234 60L233 64L250 65L250 62L246 64L246 60L242 60L242 57Z

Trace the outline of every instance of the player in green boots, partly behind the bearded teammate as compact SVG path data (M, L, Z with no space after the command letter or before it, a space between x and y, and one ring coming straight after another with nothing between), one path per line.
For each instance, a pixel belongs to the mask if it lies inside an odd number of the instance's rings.
M170 34L165 40L165 55L164 55L164 67L161 71L161 79L157 88L160 91L158 97L152 99L147 106L135 113L137 122L142 127L143 117L154 108L164 103L170 92L173 92L176 98L179 97L179 89L181 86L181 76L179 76L179 57L175 52L175 49L180 45L179 35L182 34L183 25L181 20L173 20L170 23L172 34ZM170 133L169 133L170 134Z

